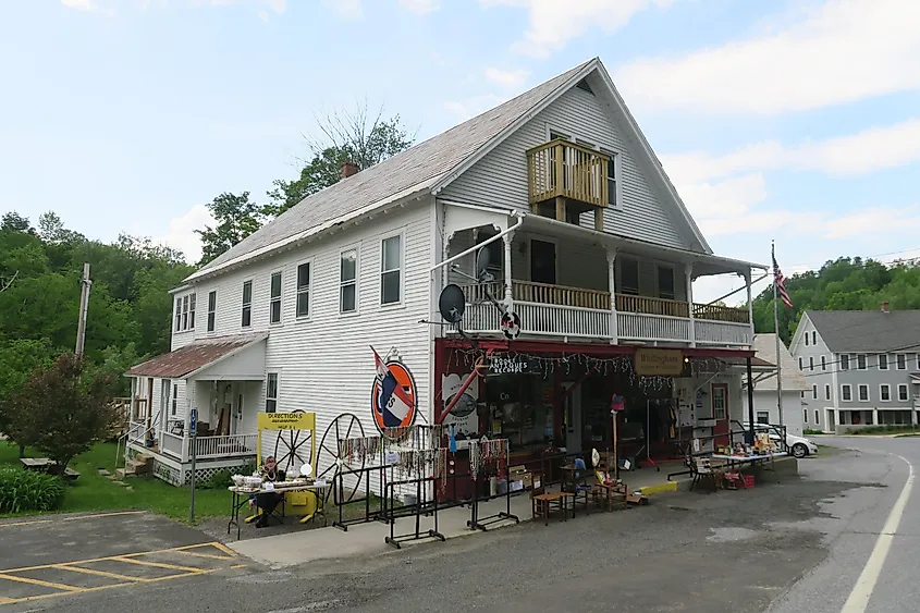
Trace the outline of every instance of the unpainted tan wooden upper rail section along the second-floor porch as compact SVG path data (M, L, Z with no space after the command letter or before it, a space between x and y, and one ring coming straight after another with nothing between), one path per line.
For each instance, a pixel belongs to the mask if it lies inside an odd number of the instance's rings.
M464 285L463 292L469 303L484 302L486 292L496 301L505 295L502 282L487 284ZM562 307L588 308L610 310L610 293L584 287L568 287L535 283L532 281L512 282L512 297L515 302L539 305L555 305ZM694 318L708 321L728 321L733 323L748 323L748 310L719 305L694 304ZM665 317L682 317L689 319L690 304L682 301L653 298L651 296L636 296L631 294L616 294L616 310L620 312L636 312L641 315L661 315Z

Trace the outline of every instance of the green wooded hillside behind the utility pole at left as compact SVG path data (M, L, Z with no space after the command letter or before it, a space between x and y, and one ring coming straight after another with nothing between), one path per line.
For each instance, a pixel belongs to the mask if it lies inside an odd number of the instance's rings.
M37 228L8 212L0 220L0 396L35 367L74 351L86 261L93 278L86 357L121 373L169 351L167 292L193 271L182 254L126 235L113 244L89 241L53 212Z

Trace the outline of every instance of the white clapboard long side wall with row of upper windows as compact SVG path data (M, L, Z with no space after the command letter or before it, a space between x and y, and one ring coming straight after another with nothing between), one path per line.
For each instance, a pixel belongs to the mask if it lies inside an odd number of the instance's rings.
M380 216L331 238L292 249L244 270L206 280L196 286L200 308L218 292L216 330L210 335L269 332L266 371L279 373L278 410L303 409L317 414L317 434L322 439L340 414L353 413L365 433L376 432L370 414L375 378L372 345L381 357L398 348L412 370L418 391L419 412L430 421L430 330L419 320L429 318L432 237L431 207L420 203ZM403 304L380 305L381 241L404 233ZM339 312L339 257L346 247L358 248L358 314ZM310 317L297 320L297 266L311 261ZM269 323L270 277L281 270L282 321ZM252 327L241 326L243 282L253 280ZM196 316L195 335L206 338L206 315ZM203 377L206 375L203 373ZM245 384L243 427L255 432L257 412L265 410L265 379ZM208 402L207 399L201 399ZM419 421L421 421L421 416ZM214 425L212 425L213 427ZM357 436L357 432L353 432ZM273 439L263 446L274 450ZM329 445L332 449L334 445Z

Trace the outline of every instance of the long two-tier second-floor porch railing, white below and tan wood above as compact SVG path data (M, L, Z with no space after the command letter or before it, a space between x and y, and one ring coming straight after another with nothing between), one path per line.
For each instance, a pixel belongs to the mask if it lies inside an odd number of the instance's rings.
M464 286L467 299L464 328L469 332L499 330L499 310L488 303L487 292L504 298L504 283ZM525 333L550 336L612 339L610 293L580 287L513 281L514 309ZM627 341L689 342L689 303L616 294L617 338ZM694 340L701 344L748 345L751 329L747 309L692 305Z

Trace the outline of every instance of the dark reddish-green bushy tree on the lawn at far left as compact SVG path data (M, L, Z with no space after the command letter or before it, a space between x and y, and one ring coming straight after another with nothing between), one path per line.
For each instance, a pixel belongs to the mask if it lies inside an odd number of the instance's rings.
M91 373L86 366L84 359L63 354L50 368L33 375L8 401L34 420L20 444L45 453L60 471L102 440L115 419L113 379Z

